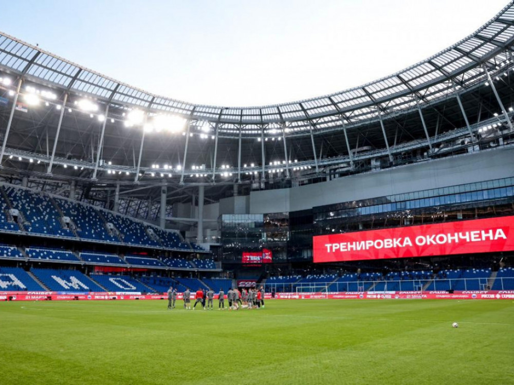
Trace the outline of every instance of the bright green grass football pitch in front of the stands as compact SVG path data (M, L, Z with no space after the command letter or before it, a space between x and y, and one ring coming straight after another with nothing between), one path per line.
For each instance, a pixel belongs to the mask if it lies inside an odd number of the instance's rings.
M0 303L0 383L514 383L509 300L167 303Z

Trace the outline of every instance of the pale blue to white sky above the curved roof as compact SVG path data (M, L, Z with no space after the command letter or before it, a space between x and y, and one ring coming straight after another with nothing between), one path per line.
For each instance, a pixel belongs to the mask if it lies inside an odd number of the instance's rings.
M196 104L286 103L359 86L456 43L506 0L17 0L0 30ZM10 17L6 17L10 15Z

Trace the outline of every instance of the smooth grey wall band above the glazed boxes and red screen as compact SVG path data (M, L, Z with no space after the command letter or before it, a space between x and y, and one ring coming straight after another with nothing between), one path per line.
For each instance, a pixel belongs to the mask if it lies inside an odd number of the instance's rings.
M289 189L252 191L250 213L281 213L326 204L514 176L514 148L476 152Z

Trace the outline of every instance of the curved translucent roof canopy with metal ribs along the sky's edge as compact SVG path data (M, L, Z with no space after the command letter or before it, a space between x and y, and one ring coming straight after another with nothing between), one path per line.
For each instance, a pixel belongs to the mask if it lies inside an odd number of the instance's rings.
M379 114L401 113L434 103L460 88L484 81L510 59L514 4L510 2L473 34L411 67L359 87L302 101L256 107L198 105L165 98L108 78L0 33L0 69L99 102L154 113L176 114L194 124L215 126L220 136L263 133L307 134L351 127ZM121 117L118 117L122 119ZM200 123L199 123L200 122Z

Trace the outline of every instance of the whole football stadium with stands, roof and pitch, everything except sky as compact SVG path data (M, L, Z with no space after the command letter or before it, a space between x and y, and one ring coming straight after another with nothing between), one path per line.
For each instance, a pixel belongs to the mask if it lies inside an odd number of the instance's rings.
M514 2L488 17L252 107L0 32L0 384L514 383Z

